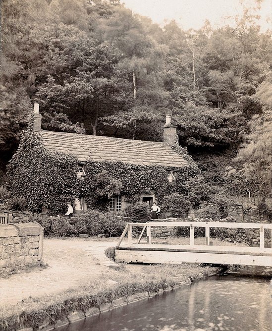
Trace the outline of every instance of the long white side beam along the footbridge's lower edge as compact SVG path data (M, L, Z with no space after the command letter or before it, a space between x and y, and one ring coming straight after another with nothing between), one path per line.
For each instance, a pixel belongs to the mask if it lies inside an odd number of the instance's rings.
M115 262L126 263L214 263L272 267L272 258L266 256L213 254L196 252L161 252L115 249Z

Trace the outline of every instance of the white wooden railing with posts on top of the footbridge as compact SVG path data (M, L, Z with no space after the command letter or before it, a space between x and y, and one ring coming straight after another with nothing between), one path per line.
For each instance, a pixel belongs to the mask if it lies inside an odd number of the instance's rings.
M271 223L234 223L234 222L194 222L194 221L151 221L146 223L132 223L129 222L126 224L126 227L120 236L119 242L116 247L121 245L125 235L127 234L127 245L132 245L132 228L133 226L142 226L143 229L141 231L140 236L136 244L139 244L144 232L146 231L147 244L151 244L151 228L153 226L180 226L180 227L189 227L190 228L190 246L195 246L195 227L205 227L205 242L206 245L210 245L210 228L219 227L219 228L229 228L229 229L259 229L260 235L260 249L265 248L265 229L271 231L272 236L272 224Z

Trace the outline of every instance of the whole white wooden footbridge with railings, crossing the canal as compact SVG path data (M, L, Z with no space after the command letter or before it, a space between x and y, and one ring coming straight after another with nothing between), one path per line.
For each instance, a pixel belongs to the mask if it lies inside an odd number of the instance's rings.
M138 238L132 237L133 227L142 227ZM152 243L153 227L185 226L190 228L189 245L164 245ZM195 228L205 227L205 245L195 243ZM258 229L259 247L251 246L214 246L210 242L211 228ZM146 232L146 242L142 242ZM230 222L194 222L194 221L152 221L147 223L127 223L120 240L115 247L115 262L126 263L213 263L248 266L272 267L272 247L265 247L265 232L271 240L270 223L230 223ZM127 234L127 241L124 237ZM134 239L134 240L133 240ZM133 242L134 241L134 242ZM122 244L122 245L121 245ZM270 244L271 246L271 244Z

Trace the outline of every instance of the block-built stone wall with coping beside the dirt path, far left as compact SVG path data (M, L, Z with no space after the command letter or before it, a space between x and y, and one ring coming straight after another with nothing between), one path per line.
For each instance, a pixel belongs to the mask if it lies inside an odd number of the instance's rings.
M0 224L0 274L40 261L43 240L39 223Z

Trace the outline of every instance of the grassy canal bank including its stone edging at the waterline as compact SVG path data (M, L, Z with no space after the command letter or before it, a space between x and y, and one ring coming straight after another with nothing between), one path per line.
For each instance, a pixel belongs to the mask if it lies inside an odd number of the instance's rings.
M125 272L123 266L117 266L116 268L120 268L121 273ZM121 282L122 277L120 275L115 275L116 280L112 280L113 275L111 274L110 279L105 280L106 282L103 285L104 290L95 294L93 293L96 292L96 289L90 285L78 288L76 292L71 290L69 299L63 302L57 301L57 298L44 298L47 302L50 299L51 303L52 300L55 300L49 307L46 307L46 301L38 300L37 306L35 302L37 300L29 299L26 303L30 307L31 304L34 304L36 308L30 311L25 310L20 316L13 315L8 319L0 321L0 330L54 330L59 326L73 324L76 321L98 314L103 315L105 312L109 312L115 308L155 297L182 285L189 285L192 281L213 276L220 271L220 268L202 268L197 265L143 266L142 268L147 272L146 277L143 277L142 271L130 271L130 279L131 277L134 278L133 281L129 281L126 275L124 276L124 281ZM189 271L190 276L188 274ZM152 279L148 281L148 278ZM41 305L44 308L38 309Z

